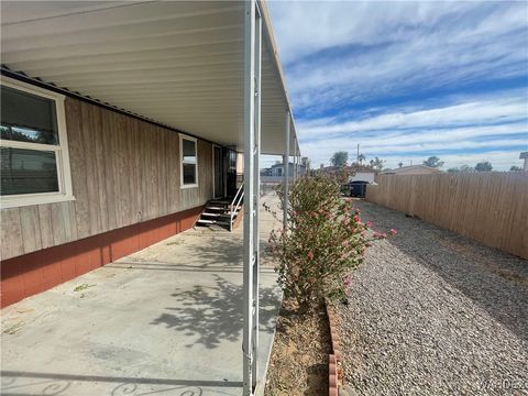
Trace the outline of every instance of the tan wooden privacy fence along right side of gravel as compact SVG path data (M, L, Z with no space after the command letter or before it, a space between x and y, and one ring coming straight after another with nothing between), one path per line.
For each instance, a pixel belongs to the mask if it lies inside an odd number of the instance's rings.
M380 175L366 200L528 258L528 173Z

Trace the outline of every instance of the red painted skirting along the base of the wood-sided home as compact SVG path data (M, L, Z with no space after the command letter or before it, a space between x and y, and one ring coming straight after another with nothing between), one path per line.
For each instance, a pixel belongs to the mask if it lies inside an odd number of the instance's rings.
M193 227L202 207L2 261L1 307L47 290Z

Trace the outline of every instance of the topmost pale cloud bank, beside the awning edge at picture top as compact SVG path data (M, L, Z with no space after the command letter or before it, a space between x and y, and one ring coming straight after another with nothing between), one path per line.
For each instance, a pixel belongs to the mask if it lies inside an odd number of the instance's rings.
M455 2L272 1L283 62L345 44L373 45L408 35L402 26L431 25L474 4ZM290 32L295 34L290 34Z

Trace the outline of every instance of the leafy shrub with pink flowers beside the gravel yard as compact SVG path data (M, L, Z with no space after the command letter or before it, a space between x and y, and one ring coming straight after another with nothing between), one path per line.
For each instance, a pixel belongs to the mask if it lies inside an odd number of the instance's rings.
M277 190L284 208L284 197ZM272 231L271 249L277 258L278 283L299 310L321 298L344 297L350 271L363 262L373 239L351 199L340 197L340 186L323 175L305 176L290 187L286 231ZM391 233L396 230L391 230Z

